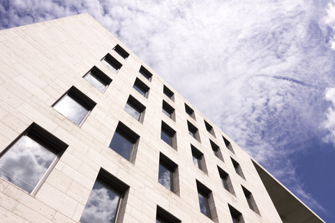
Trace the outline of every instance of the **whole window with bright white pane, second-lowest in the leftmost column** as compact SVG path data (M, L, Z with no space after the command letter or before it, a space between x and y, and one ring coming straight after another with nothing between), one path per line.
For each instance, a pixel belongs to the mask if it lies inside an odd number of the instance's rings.
M66 116L76 125L82 125L94 106L96 106L96 102L74 86L52 105L57 112Z

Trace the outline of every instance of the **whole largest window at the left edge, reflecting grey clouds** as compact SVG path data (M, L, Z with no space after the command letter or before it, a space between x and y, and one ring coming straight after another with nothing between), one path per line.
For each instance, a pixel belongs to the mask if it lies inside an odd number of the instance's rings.
M36 194L67 147L33 123L0 154L0 177Z

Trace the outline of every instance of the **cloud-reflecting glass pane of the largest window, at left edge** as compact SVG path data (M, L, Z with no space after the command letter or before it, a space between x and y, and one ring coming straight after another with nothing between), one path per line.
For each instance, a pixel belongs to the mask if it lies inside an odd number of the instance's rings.
M0 176L31 193L56 157L25 136L0 160Z

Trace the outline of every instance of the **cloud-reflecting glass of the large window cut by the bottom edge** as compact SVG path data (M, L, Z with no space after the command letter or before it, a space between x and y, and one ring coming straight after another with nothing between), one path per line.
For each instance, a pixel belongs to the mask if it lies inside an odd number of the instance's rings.
M113 223L121 194L96 181L85 206L80 222Z

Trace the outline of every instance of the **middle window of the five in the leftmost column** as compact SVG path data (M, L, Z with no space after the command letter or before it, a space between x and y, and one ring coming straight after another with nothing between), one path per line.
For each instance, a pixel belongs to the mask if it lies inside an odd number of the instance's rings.
M104 92L105 89L107 89L107 86L112 82L112 79L105 75L105 73L99 70L96 66L91 68L83 78L101 92Z

